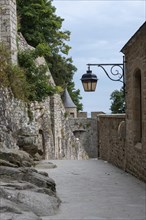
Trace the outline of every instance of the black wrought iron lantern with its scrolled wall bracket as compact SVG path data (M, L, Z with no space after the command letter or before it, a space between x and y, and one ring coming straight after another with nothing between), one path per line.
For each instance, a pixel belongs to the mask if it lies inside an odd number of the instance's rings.
M96 89L96 84L98 78L95 74L90 70L90 66L101 67L107 77L112 81L118 81L123 83L123 90L125 91L125 57L123 57L123 63L110 63L110 64L87 64L88 70L85 74L82 75L81 81L83 84L83 88L85 92L94 92ZM110 72L108 73L106 68L110 66ZM111 76L110 76L111 74Z

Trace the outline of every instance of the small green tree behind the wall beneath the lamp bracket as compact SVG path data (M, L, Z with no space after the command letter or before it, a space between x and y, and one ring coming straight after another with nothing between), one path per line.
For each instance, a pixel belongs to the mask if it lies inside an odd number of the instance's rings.
M110 107L112 113L125 113L125 97L123 88L121 88L120 91L113 91L110 99L112 100Z

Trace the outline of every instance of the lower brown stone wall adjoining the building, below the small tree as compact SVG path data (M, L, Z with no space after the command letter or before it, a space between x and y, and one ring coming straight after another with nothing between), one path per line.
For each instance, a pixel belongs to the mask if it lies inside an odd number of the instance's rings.
M125 115L99 115L99 157L125 169Z

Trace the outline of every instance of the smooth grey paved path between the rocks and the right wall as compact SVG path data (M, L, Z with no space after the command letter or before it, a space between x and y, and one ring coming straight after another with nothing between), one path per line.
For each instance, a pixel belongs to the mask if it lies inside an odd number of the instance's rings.
M62 200L43 220L146 220L146 184L102 160L51 160Z

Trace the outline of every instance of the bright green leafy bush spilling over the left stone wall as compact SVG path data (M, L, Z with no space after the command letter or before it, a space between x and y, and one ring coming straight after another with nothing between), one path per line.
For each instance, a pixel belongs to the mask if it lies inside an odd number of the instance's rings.
M37 53L35 50L23 51L18 55L19 65L25 71L26 81L29 86L29 101L42 101L57 92L57 88L48 82L47 66L37 66L36 58Z

